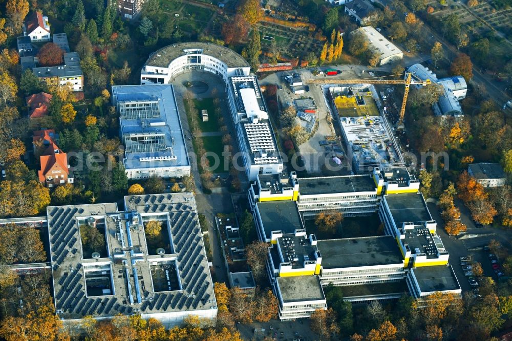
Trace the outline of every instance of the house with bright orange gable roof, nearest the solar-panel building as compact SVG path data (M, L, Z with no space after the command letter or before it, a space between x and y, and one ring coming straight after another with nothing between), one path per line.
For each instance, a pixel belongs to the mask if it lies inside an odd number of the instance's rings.
M47 187L73 183L73 172L68 165L68 156L52 142L40 157L39 181Z

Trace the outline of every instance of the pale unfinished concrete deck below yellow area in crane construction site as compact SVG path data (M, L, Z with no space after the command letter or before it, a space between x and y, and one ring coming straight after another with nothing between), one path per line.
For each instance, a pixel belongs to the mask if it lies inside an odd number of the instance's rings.
M341 117L343 137L356 164L399 164L393 135L381 116Z

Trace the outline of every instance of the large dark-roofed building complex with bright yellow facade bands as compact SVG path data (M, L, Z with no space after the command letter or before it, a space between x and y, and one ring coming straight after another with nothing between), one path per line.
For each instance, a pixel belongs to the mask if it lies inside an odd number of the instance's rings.
M342 286L350 302L396 299L406 291L416 298L433 291L460 293L418 189L419 182L403 166L354 176L259 175L248 198L258 237L270 243L266 265L280 319L327 309L322 287L331 283ZM378 213L384 235L318 240L305 222L323 210L346 217ZM308 290L293 296L292 286ZM293 304L288 304L291 296Z

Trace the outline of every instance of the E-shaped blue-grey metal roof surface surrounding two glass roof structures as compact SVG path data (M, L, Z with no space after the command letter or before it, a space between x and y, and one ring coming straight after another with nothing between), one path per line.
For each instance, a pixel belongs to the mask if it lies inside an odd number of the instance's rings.
M144 86L113 86L112 103L120 101L158 101L159 117L144 119L120 119L121 135L163 134L165 148L154 152L126 152L125 168L170 167L189 165L185 138L176 104L173 86L170 84ZM151 125L152 123L165 123ZM176 156L176 160L140 161L140 158Z

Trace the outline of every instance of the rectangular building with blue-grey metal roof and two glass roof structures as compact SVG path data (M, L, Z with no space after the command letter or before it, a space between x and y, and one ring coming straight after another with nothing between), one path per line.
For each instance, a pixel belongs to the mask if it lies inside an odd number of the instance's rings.
M129 179L190 175L173 86L113 86Z

